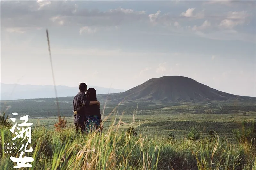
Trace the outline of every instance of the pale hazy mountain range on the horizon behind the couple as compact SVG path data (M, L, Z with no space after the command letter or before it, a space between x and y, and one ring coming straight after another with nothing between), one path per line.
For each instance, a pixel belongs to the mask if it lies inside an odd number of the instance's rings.
M123 89L88 86L96 89L97 94L120 93ZM75 96L79 87L56 86L58 97ZM53 85L19 85L1 83L1 100L35 99L55 97Z

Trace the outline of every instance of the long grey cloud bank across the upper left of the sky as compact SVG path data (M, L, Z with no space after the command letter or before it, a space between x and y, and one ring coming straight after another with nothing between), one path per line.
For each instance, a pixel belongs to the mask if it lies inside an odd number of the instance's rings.
M56 24L109 27L140 21L148 22L146 11L121 7L105 11L91 10L81 5L81 1L69 1L68 3L65 1L20 1L18 4L8 1L1 3L1 25L4 27L50 27Z

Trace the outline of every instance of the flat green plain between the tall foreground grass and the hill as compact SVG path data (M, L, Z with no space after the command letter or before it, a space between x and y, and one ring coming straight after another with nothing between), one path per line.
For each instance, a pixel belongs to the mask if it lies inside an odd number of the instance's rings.
M11 112L19 115L29 115L33 126L45 126L54 129L58 121L54 99L10 100L2 102L1 110L11 106L6 114ZM67 120L67 127L74 128L71 98L60 99L60 113ZM104 104L104 102L101 102ZM236 142L232 130L241 127L241 122L256 120L255 104L243 102L211 102L211 103L171 103L130 102L120 105L101 104L101 114L104 130L118 125L120 128L134 126L141 134L148 136L167 137L173 133L177 139L186 137L191 127L202 136L207 136L214 130L220 138ZM28 107L27 107L28 105ZM19 106L22 106L19 110ZM29 112L28 109L34 110ZM63 112L65 110L66 112ZM104 113L104 114L103 114ZM47 117L48 116L48 117Z

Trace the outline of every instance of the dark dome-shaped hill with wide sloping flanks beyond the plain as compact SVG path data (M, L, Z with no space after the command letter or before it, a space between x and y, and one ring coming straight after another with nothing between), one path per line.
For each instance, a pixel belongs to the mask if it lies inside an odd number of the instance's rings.
M101 98L107 95L100 95ZM126 92L108 95L108 100L157 100L161 102L208 102L223 100L255 100L255 97L236 96L213 89L183 76L152 78Z

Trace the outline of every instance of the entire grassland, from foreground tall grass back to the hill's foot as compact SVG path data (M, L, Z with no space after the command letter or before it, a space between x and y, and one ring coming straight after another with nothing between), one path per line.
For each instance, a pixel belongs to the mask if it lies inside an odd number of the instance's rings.
M69 106L68 101L62 102L65 104L60 105L61 113L67 108L69 110L62 114L67 120L67 127L61 133L54 131L53 124L58 121L58 117L52 99L48 102L13 100L1 104L1 110L11 106L7 110L9 115L10 112L18 112L20 116L29 115L29 122L33 122L33 146L37 148L35 152L38 153L34 155L36 156L34 167L42 167L42 169L256 168L255 146L250 143L238 143L232 134L232 129L241 128L242 121L256 120L253 103L131 102L117 107L107 105L105 108L103 105L101 106L102 113L104 110L103 134L76 136L73 115L70 114L72 107ZM28 109L26 111L28 104L35 111L31 116L31 111L28 112ZM51 106L47 108L49 104ZM20 111L18 106L21 105L23 109ZM136 137L124 133L132 126L138 133ZM188 140L191 127L194 127L203 138L198 141ZM218 139L209 140L210 130L217 133ZM174 134L173 139L168 139L170 133ZM1 128L2 143L11 141L11 136L9 130ZM8 159L9 156L1 152L1 169L9 169L13 166Z

